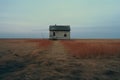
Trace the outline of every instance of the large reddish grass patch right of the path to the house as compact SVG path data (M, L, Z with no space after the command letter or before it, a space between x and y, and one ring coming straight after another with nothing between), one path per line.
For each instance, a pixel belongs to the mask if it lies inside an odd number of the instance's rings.
M61 42L73 56L120 57L120 40L62 40Z

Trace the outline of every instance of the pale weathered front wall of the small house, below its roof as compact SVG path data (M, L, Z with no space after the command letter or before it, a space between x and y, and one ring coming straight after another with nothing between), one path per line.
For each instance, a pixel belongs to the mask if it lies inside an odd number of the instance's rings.
M55 36L53 36L53 32L55 32ZM64 34L67 36L64 37ZM50 39L70 39L70 31L50 31L49 34Z

